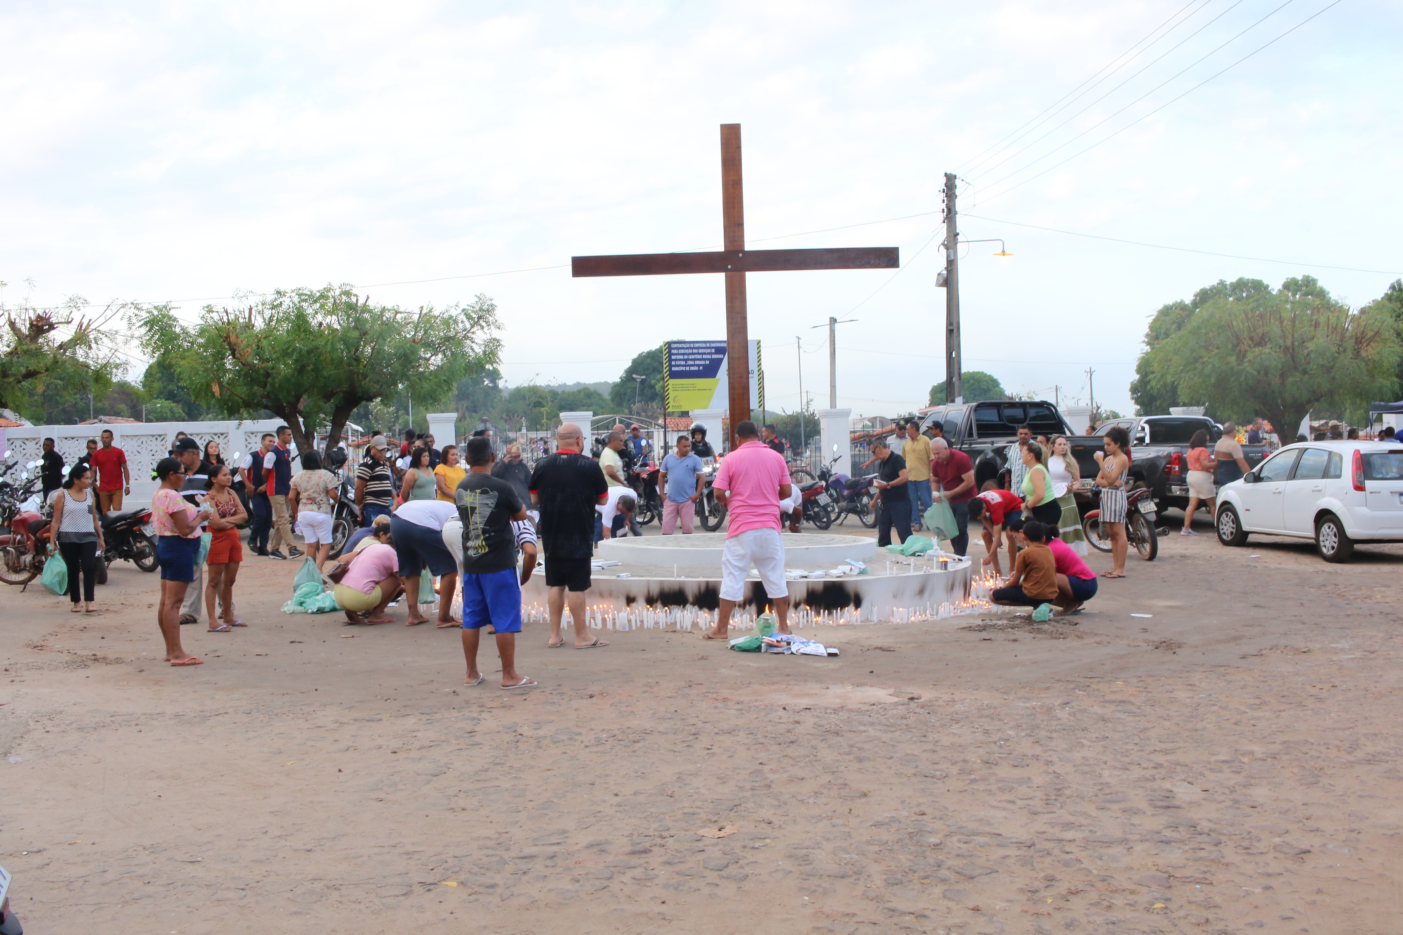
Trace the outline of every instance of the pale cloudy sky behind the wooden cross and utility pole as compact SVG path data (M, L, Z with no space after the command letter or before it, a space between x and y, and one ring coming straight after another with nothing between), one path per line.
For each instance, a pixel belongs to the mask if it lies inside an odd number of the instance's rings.
M826 405L811 325L829 315L859 320L839 405L925 402L955 171L961 236L1013 254L964 251L965 367L1082 401L1090 367L1128 412L1160 304L1301 273L1361 304L1400 275L1400 31L1388 0L13 0L0 279L10 306L182 315L327 282L405 306L481 292L509 381L615 380L662 341L723 338L721 278L565 265L717 248L717 126L738 122L753 247L895 245L904 264L749 278L770 407L798 404L801 356ZM529 272L487 275L504 271Z

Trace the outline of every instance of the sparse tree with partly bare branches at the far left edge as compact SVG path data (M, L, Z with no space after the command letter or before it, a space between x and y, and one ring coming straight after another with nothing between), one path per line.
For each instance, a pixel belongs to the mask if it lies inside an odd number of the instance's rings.
M87 300L73 296L62 308L4 310L0 408L41 419L45 400L83 395L86 411L86 394L101 400L108 393L118 366L105 328L128 306L108 306L95 318L84 317L86 307Z

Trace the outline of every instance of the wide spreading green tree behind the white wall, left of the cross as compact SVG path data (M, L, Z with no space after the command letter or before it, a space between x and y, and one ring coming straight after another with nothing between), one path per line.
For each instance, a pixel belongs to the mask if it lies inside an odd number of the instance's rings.
M206 306L194 325L168 308L147 310L133 325L196 401L229 418L267 409L302 449L320 426L334 447L368 402L401 393L443 398L501 353L497 306L487 296L404 310L325 286L278 290L244 308Z

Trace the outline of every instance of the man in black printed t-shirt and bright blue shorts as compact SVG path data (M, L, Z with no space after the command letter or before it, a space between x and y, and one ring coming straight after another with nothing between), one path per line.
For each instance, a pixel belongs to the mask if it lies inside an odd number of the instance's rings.
M466 685L483 681L477 645L483 627L497 634L502 657L502 688L530 688L533 678L516 671L516 634L522 631L522 589L516 582L516 538L512 520L526 519L526 505L506 481L491 475L492 443L469 439L467 475L453 491L463 520L463 659Z

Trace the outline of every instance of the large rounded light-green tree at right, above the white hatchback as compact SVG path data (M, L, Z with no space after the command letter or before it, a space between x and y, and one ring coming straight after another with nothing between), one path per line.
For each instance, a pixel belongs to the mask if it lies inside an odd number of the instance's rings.
M1357 407L1395 390L1390 315L1351 311L1312 276L1274 292L1256 286L1237 280L1157 342L1153 377L1219 418L1264 416L1284 439L1312 408Z

